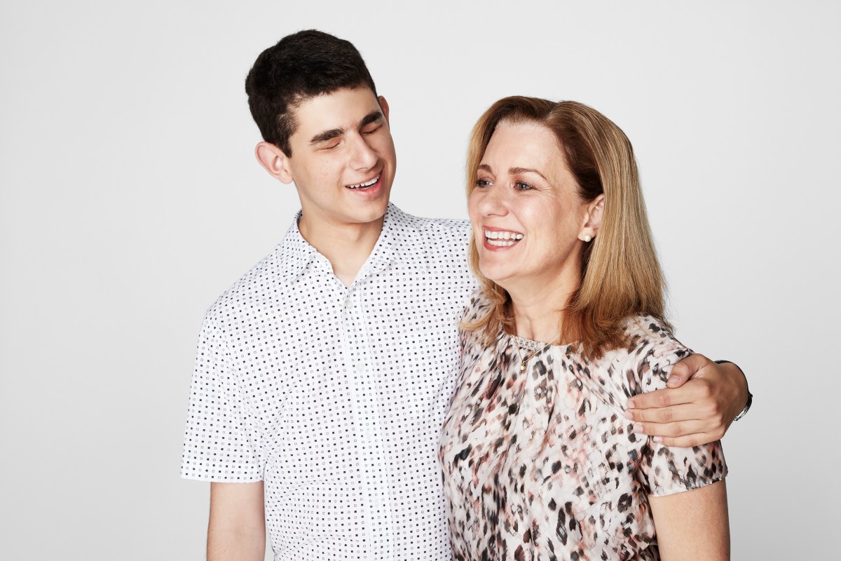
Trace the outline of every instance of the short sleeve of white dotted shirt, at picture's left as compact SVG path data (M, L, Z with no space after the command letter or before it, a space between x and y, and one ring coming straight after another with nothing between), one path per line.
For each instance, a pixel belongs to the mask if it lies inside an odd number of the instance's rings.
M205 318L198 337L181 476L247 483L262 479L259 432L219 328Z

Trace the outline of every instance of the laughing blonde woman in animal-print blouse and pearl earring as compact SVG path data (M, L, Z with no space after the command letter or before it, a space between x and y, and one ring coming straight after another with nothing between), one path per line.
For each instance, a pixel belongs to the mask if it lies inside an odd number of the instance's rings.
M581 103L505 98L468 155L458 388L439 458L456 559L727 559L718 442L635 434L690 354L664 317L632 147Z

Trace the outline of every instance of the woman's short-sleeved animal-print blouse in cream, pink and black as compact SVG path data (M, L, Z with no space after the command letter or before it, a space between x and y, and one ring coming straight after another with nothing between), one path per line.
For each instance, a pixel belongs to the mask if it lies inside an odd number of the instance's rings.
M465 319L487 312L474 294ZM455 559L658 559L648 495L723 479L719 442L675 448L632 432L627 399L665 387L690 354L657 320L627 321L632 349L593 362L500 332L462 334L460 379L442 427Z

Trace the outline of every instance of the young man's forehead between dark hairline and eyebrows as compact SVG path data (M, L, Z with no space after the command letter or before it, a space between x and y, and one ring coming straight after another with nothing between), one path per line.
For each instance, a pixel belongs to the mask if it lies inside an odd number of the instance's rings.
M377 97L369 87L341 89L305 99L294 109L295 134L349 129L372 111L379 111Z

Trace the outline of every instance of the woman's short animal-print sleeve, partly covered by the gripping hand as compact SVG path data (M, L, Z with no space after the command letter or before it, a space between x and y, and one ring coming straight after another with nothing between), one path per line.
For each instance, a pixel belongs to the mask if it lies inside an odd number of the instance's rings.
M643 392L663 389L674 364L691 351L668 335L645 353L637 374ZM721 442L690 448L669 447L648 442L641 450L637 479L648 495L663 496L697 489L727 475Z

